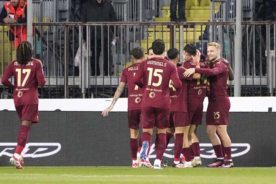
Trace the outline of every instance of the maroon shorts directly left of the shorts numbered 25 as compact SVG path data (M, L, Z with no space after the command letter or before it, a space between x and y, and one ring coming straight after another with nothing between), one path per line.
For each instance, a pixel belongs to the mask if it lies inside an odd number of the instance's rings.
M201 125L203 115L203 102L199 100L188 102L188 113L191 125Z

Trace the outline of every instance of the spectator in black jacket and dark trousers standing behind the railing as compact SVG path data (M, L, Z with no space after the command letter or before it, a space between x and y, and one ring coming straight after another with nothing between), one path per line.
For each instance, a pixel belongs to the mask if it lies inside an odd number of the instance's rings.
M109 1L89 0L82 5L80 20L81 22L117 22L117 17ZM94 26L90 27L90 50L92 52L90 62L93 76L100 75L99 57L102 51L104 75L111 75L111 32L114 34L113 26L109 26L109 30L108 26L96 26L96 29ZM115 36L115 39L118 40L118 35L115 34ZM86 27L83 27L83 42L86 42L86 40Z

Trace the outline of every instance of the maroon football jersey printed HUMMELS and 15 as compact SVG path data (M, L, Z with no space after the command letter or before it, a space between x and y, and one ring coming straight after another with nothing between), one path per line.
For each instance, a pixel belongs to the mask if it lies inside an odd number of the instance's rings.
M137 71L134 82L143 78L142 107L170 109L170 79L176 88L181 87L176 66L164 58L144 60ZM139 79L139 80L138 80Z

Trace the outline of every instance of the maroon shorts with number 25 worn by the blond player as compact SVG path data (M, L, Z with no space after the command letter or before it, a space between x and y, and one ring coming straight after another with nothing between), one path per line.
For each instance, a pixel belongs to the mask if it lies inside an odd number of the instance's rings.
M206 125L227 125L230 100L209 102L206 112Z

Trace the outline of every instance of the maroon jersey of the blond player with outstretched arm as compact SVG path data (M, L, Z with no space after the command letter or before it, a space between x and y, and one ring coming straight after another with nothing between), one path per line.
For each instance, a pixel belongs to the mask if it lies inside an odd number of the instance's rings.
M217 101L227 100L228 88L228 66L220 58L212 63L211 68L196 68L195 72L210 75L210 94L213 94Z

